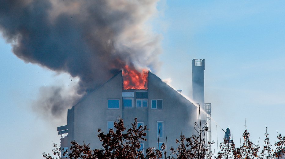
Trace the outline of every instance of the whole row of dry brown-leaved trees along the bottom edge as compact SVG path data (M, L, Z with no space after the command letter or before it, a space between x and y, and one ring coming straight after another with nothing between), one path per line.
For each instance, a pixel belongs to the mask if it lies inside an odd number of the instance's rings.
M201 109L199 109L201 112ZM200 116L200 113L199 113ZM207 122L207 121L206 121ZM213 142L208 142L208 146L205 141L205 133L208 130L206 123L202 123L201 119L199 123L194 124L196 134L191 137L185 137L180 135L180 139L176 140L177 148L171 147L170 154L167 156L165 150L165 144L161 147L150 147L146 149L146 154L140 150L140 143L146 141L146 126L139 126L137 128L137 119L131 124L131 128L127 129L124 126L123 119L119 119L118 122L114 122L114 130L110 129L107 134L98 129L98 138L102 142L102 149L91 150L89 144L83 143L83 145L72 141L70 147L70 153L67 150L62 150L60 146L54 144L52 150L52 157L50 153L43 153L43 157L46 159L61 159L61 154L67 155L70 159L211 159L212 152L209 152L209 145ZM265 133L265 140L263 149L261 152L260 146L254 144L250 140L250 133L247 129L244 131L243 142L241 146L235 147L235 143L229 139L224 139L220 143L220 152L216 159L281 159L285 154L285 136L279 134L277 136L278 141L274 144L275 148L270 144L269 135Z

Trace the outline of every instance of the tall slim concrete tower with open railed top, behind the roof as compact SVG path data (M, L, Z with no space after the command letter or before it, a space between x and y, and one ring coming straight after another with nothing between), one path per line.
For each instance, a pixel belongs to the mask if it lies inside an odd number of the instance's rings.
M204 109L205 105L204 70L205 70L205 59L192 60L193 100L194 102L199 103L202 109Z

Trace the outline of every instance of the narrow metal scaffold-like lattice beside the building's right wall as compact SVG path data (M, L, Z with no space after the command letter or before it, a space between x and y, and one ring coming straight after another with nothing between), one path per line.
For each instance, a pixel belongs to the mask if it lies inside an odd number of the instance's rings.
M208 126L208 130L206 131L205 135L206 135L206 145L207 147L209 147L209 152L212 151L212 147L211 144L209 144L208 142L212 142L212 138L211 138L211 103L205 103L205 120L207 122L207 126Z

